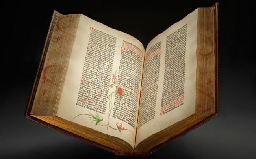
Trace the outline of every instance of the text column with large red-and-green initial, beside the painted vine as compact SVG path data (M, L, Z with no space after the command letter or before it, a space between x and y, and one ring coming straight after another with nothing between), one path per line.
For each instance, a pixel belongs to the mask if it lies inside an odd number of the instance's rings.
M112 117L124 121L135 128L137 105L139 102L142 52L132 43L123 41ZM119 91L120 90L120 91Z

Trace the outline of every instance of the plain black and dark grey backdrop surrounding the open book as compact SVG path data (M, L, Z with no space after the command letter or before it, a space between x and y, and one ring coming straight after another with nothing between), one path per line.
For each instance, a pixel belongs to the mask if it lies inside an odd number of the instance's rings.
M24 118L53 10L82 13L148 42L197 7L216 1L91 0L1 4L0 158L119 157ZM255 158L256 62L252 4L219 1L220 114L150 157Z

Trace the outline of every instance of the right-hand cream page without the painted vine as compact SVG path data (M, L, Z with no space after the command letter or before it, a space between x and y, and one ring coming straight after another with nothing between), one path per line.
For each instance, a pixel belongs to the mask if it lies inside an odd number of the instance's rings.
M197 9L147 46L136 146L195 113Z

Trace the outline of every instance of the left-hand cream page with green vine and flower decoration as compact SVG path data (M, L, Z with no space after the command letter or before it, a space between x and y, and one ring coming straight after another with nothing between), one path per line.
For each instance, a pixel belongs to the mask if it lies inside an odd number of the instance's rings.
M134 148L144 54L139 40L81 15L57 116Z

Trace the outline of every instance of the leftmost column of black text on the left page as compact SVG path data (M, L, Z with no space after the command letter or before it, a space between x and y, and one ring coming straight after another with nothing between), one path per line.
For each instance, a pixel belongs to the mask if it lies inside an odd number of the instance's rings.
M76 105L106 113L116 38L90 27Z

